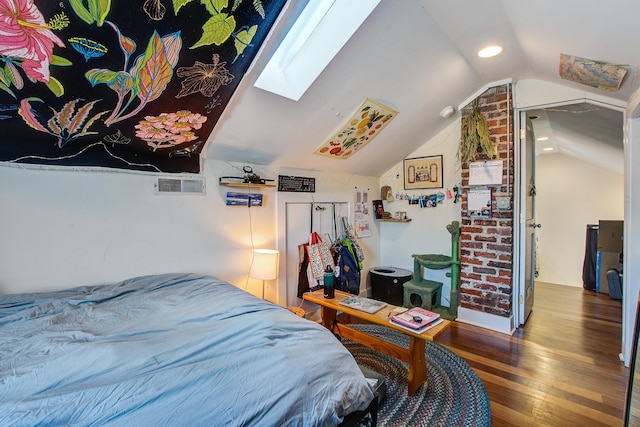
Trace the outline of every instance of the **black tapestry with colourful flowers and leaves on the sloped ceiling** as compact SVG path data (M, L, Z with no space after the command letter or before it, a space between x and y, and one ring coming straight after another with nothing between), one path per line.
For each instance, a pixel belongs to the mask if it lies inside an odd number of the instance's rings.
M200 172L285 0L0 0L0 161Z

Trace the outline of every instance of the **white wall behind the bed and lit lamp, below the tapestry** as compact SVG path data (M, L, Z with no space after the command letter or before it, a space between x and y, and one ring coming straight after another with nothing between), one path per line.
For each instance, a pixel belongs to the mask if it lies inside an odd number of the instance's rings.
M227 191L244 189L219 186L218 178L241 176L236 166L242 165L207 159L204 196L156 195L154 175L0 166L0 294L189 271L214 274L260 294L262 283L247 279L251 247L277 248L278 192L264 189L261 208L226 206ZM253 167L264 178L316 177L317 192L351 200L354 186L373 188L378 182ZM288 197L307 200L313 194ZM375 252L377 234L362 243ZM284 286L285 279L279 279L265 296L276 300L281 281Z

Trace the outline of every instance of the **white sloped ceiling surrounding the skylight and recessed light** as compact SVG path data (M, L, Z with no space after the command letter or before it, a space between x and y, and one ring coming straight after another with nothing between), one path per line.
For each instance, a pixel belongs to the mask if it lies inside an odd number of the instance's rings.
M382 0L299 101L253 87L306 1L292 1L208 139L207 158L380 176L455 119L492 82L540 79L626 101L640 65L635 0ZM477 51L504 52L480 59ZM562 80L561 53L622 64L617 92ZM399 111L347 160L312 154L365 99ZM459 114L459 112L457 112Z

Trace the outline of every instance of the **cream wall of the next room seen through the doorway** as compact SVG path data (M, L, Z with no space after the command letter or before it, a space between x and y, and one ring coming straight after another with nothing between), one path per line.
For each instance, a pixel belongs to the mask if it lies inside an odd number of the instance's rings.
M543 154L536 157L536 190L538 280L582 287L586 226L624 218L624 174Z

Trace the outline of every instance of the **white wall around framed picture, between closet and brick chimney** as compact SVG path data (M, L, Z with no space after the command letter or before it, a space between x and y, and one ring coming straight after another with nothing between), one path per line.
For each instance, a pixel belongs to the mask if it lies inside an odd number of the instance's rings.
M457 118L455 118L457 117ZM438 135L426 142L415 152L407 156L443 156L443 184L442 189L433 190L405 190L403 162L397 163L380 178L380 186L390 185L394 195L406 193L410 195L434 194L453 191L453 187L460 184L460 162L457 159L458 142L460 140L460 118L455 116L451 123ZM380 198L380 193L378 193ZM409 205L406 200L385 202L385 209L389 212L406 211L411 218L409 223L376 222L380 233L380 262L406 268L413 271L412 254L443 254L451 255L451 234L446 226L451 221L460 221L460 204L446 199L436 208L420 208ZM429 279L443 283L443 305L449 305L451 280L445 276L448 270L429 270Z

